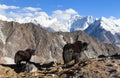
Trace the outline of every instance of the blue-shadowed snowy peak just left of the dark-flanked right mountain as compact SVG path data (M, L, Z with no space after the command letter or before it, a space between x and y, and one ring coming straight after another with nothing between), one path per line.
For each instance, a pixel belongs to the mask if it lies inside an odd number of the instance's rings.
M75 16L71 18L69 22L71 22L70 31L85 30L90 24L94 22L94 18L92 16Z

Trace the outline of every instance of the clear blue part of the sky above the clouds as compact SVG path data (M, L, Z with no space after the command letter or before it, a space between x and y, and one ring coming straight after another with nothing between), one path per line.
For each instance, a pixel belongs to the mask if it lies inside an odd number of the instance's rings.
M120 18L120 0L0 0L0 4L20 7L19 10L24 7L39 8L39 11L44 11L48 15L52 15L56 10L64 11L71 8L81 16Z

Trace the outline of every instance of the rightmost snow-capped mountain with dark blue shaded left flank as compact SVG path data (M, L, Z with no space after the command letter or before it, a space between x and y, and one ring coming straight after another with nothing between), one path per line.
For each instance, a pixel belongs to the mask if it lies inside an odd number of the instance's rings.
M120 19L101 17L85 30L101 42L120 46Z

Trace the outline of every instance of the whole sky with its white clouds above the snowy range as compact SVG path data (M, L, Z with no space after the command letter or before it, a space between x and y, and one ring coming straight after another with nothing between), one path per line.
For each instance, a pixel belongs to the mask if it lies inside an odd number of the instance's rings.
M0 0L0 15L14 18L39 13L59 18L74 14L120 18L119 7L120 0Z

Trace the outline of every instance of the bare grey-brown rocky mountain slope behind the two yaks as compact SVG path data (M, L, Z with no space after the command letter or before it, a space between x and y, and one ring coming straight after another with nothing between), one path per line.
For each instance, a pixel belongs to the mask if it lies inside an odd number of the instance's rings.
M14 63L13 58L18 50L26 48L36 49L36 55L31 61L45 63L55 61L62 63L62 48L66 42L76 40L89 43L88 51L82 54L82 58L93 58L100 54L112 55L120 52L120 48L102 44L83 31L75 32L49 32L32 23L19 24L16 22L0 21L0 63ZM11 60L10 60L11 59Z

